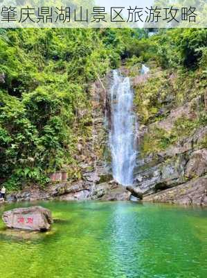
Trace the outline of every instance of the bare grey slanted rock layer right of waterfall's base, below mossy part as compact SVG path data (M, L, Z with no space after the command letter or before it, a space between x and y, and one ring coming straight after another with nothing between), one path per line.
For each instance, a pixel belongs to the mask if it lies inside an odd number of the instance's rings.
M138 159L135 186L148 195L204 177L207 172L206 136L207 127L202 127L167 149Z

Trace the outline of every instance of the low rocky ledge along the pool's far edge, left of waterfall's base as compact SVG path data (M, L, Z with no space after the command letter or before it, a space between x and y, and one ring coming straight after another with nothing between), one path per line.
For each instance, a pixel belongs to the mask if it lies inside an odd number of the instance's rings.
M76 181L73 183L52 184L46 190L39 188L26 188L19 193L7 196L8 202L34 201L40 199L58 199L61 201L82 201L90 199L102 200L129 200L131 193L114 181L104 183L89 183L89 181Z

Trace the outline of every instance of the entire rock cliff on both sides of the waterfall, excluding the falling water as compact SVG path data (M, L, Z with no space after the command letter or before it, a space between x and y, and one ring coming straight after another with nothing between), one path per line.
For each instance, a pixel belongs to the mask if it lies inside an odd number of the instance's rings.
M122 70L130 75L129 70ZM134 111L140 127L134 188L127 190L114 182L111 174L109 80L110 74L91 87L91 138L88 142L79 142L75 157L80 177L52 183L46 189L39 186L24 188L19 193L8 195L7 199L128 200L132 195L138 195L144 202L207 206L206 86L197 87L195 82L197 91L188 88L188 96L180 101L179 98L186 96L187 92L179 95L179 77L176 74L156 69L145 76L132 77Z

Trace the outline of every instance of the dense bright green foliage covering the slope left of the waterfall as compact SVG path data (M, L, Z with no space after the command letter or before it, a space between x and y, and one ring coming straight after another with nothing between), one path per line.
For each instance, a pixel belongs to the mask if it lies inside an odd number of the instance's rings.
M116 35L116 34L115 34ZM89 83L120 63L94 29L17 29L0 35L0 177L7 188L48 183L90 136Z

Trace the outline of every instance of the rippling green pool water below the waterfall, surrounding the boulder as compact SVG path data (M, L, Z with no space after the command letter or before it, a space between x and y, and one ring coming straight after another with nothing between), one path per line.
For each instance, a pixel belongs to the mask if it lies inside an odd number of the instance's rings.
M207 210L133 202L38 202L44 234L0 222L1 278L207 277ZM12 204L4 209L30 204Z

